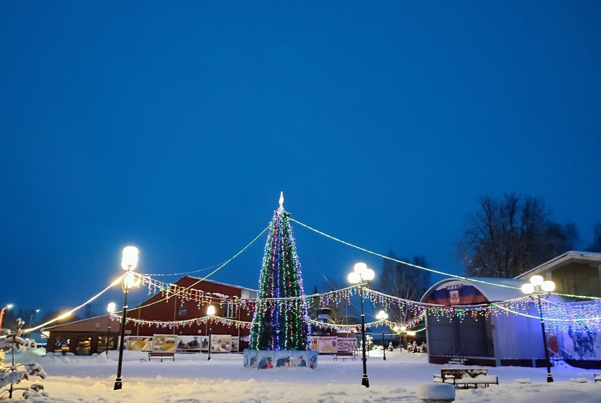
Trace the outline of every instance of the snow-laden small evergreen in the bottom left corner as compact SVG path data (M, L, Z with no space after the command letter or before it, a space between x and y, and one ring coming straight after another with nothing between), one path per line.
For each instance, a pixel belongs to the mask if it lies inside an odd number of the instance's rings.
M0 388L9 386L0 392L0 399L8 395L9 399L13 398L14 390L25 390L23 398L33 396L47 396L43 392L44 387L40 384L32 384L31 387L14 387L22 380L28 380L29 377L46 378L46 372L38 363L17 364L14 363L14 350L25 351L27 348L35 348L35 340L24 339L23 325L25 321L21 318L17 319L17 328L9 330L5 335L0 336L0 351L11 353L11 365L6 363L0 364Z

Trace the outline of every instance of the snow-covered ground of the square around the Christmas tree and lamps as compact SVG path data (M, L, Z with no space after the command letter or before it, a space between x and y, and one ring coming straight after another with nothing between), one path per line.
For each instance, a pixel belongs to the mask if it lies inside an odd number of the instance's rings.
M377 354L375 351L374 354ZM92 357L19 354L20 362L38 362L48 377L41 381L49 398L29 402L421 402L420 384L432 383L441 365L427 363L426 354L386 353L369 357L370 387L361 386L361 360L334 362L320 356L317 369L243 368L241 354L177 354L175 362L141 362L147 353L125 351L123 389L113 390L117 352ZM8 357L7 357L8 358ZM545 368L489 368L499 385L457 390L456 402L601 402L601 383L592 371L553 368L555 382L546 383ZM529 378L531 384L519 384ZM570 378L585 378L575 383ZM30 384L25 382L25 384ZM20 399L22 401L22 399Z

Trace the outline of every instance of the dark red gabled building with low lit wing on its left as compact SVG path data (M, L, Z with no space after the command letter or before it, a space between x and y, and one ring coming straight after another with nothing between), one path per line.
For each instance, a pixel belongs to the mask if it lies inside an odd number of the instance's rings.
M239 351L248 347L250 330L237 324L252 321L254 303L248 301L257 297L255 289L192 276L182 277L168 288L157 287L157 283L145 283L156 294L127 310L126 336L206 336L211 329L212 335L237 336ZM130 294L133 292L136 290ZM203 321L209 305L215 308L215 314L212 320ZM47 352L103 353L107 346L109 350L117 348L120 321L103 315L47 327L44 332L49 332Z

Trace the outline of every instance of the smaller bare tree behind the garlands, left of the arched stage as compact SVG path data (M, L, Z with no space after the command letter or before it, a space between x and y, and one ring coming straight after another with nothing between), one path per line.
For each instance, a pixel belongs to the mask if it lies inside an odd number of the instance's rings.
M409 259L397 258L392 250L388 256L398 261L409 262ZM412 263L421 267L428 265L423 256L413 256ZM430 272L391 259L384 259L378 283L379 291L384 294L405 300L419 301L430 286ZM390 306L388 315L392 321L406 323L415 317L415 311L408 305L399 303Z

